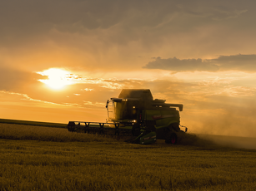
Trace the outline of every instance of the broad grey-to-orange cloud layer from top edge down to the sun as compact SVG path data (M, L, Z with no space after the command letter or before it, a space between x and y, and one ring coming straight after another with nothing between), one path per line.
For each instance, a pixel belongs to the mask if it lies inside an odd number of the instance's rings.
M33 70L133 71L169 52L247 52L255 27L243 24L253 22L252 7L249 1L1 1L0 61Z

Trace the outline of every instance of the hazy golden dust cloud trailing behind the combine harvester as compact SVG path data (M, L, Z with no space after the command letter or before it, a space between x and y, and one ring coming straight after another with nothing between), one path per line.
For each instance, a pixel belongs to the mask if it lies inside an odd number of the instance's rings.
M211 105L208 105L210 107ZM212 140L216 144L243 149L256 149L256 105L254 101L218 105L221 110L188 112L181 124L188 133Z

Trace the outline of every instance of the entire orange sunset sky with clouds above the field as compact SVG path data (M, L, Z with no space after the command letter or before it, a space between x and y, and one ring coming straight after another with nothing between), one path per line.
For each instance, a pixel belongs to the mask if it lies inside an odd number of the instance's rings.
M0 0L0 118L105 121L150 89L192 133L256 137L253 0Z

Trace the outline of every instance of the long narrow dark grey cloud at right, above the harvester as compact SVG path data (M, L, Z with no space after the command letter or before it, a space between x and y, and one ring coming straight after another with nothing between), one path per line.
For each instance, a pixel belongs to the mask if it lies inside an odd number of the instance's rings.
M176 57L163 59L154 58L143 68L162 69L173 72L183 71L256 71L256 55L218 56L215 59L178 59Z

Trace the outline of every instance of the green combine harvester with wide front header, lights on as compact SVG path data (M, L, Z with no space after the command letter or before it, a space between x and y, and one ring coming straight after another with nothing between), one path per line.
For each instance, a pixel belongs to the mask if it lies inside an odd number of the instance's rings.
M152 144L165 140L176 144L178 135L187 132L179 125L179 111L182 104L167 104L165 100L153 100L148 89L123 89L118 98L107 101L108 122L69 121L68 131L98 135L133 136L132 142ZM180 127L185 130L180 130Z

